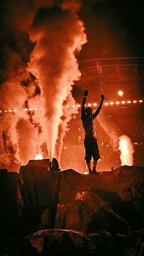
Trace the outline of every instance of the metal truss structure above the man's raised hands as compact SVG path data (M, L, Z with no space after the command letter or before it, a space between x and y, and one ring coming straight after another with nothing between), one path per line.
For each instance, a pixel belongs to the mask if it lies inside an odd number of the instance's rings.
M144 57L91 59L79 62L78 87L113 87L144 85Z

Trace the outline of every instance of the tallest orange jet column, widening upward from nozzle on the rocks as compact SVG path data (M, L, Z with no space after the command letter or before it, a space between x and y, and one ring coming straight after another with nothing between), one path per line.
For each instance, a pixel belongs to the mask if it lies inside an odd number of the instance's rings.
M79 5L71 1L59 7L39 9L29 30L31 41L36 42L29 71L37 77L41 88L50 161L59 137L63 102L71 93L73 81L81 76L75 55L87 39L84 25L77 17L78 8Z

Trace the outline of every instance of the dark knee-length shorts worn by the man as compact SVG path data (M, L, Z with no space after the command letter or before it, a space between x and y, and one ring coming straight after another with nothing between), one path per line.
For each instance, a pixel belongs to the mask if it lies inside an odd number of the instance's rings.
M85 147L85 160L91 160L93 156L93 160L97 161L99 156L98 150L98 142L95 137L85 137L84 139L84 147Z

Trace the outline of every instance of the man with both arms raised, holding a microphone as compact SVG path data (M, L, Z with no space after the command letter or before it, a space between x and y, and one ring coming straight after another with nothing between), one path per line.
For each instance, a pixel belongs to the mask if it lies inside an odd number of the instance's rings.
M81 109L81 120L82 125L85 130L85 139L84 139L84 147L85 147L85 160L87 163L87 167L90 174L96 174L96 164L98 162L99 150L98 143L96 139L96 128L95 128L95 118L99 114L101 107L103 106L104 95L101 95L101 102L93 114L92 108L85 108L85 102L88 95L88 90L84 90L84 98L82 100L82 109ZM90 161L93 156L93 170L91 169Z

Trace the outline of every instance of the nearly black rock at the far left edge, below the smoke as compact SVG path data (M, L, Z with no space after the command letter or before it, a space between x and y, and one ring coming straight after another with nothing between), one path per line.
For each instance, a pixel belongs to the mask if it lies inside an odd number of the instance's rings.
M20 235L21 207L24 202L21 196L21 181L16 172L2 172L0 175L0 237Z

